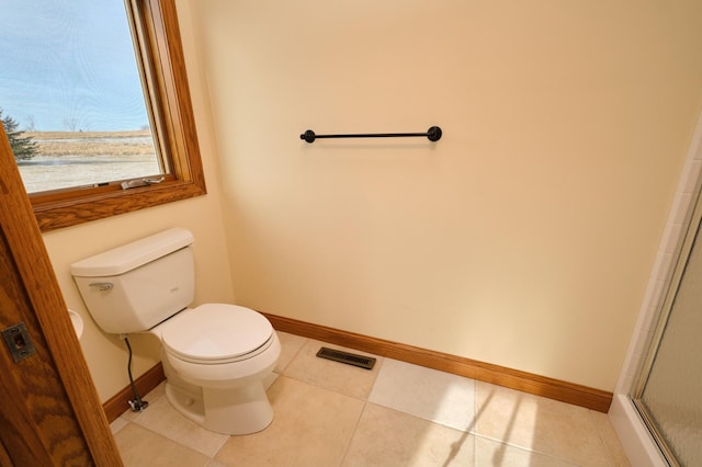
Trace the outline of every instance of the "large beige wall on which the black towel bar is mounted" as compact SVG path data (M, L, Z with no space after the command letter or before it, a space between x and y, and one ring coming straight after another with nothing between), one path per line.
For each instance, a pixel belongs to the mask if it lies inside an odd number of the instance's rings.
M613 389L702 109L702 3L189 7L239 304Z

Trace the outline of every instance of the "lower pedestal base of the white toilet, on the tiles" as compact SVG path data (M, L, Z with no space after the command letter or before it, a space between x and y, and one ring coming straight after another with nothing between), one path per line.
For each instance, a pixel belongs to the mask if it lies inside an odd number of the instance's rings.
M273 408L261 381L236 389L191 391L166 383L166 397L186 419L229 435L257 433L273 421ZM200 392L200 394L197 394Z

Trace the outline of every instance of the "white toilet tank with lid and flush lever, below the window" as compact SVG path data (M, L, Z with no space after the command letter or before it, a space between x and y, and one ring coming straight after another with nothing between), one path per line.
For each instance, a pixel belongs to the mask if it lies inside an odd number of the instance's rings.
M88 311L105 332L146 331L193 300L193 236L172 228L71 264Z

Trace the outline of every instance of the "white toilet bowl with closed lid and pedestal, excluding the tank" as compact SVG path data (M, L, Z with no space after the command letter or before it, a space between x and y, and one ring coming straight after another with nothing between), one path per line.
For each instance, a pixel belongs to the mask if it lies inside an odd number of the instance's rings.
M205 304L149 332L163 345L170 373L166 397L181 414L226 434L256 433L271 423L263 381L278 363L281 344L262 315Z

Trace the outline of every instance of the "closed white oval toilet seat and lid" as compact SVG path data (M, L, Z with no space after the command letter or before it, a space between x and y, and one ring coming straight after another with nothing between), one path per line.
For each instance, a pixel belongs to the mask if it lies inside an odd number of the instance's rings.
M265 351L273 327L249 308L205 304L185 309L159 324L167 352L185 362L226 364L251 358Z

